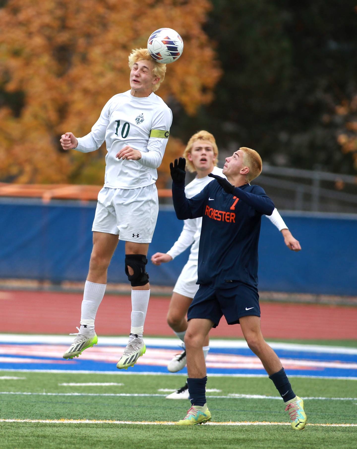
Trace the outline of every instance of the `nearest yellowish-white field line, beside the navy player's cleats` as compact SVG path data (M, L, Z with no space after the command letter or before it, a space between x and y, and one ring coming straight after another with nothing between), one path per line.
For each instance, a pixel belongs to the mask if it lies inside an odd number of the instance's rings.
M92 419L1 419L1 423L48 423L48 424L151 424L151 425L166 425L171 426L173 421L110 421L110 420L92 420ZM238 421L238 422L210 422L206 423L209 426L290 426L290 423L269 423L265 421ZM315 424L307 423L307 426L317 427L357 427L357 424Z

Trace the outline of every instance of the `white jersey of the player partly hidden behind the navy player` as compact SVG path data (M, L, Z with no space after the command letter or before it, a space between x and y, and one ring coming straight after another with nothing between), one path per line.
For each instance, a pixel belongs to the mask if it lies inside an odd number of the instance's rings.
M225 178L222 173L222 168L214 167L212 173ZM186 197L192 198L193 196L199 194L205 185L213 180L214 178L211 178L210 176L195 178L185 187ZM272 215L267 216L267 218L277 227L277 229L279 229L279 231L281 231L281 229L288 229L276 208L274 209ZM192 245L188 260L192 263L198 264L198 248L200 246L201 226L202 217L184 220L183 229L179 238L166 254L169 254L174 259L176 256L185 251L190 245Z

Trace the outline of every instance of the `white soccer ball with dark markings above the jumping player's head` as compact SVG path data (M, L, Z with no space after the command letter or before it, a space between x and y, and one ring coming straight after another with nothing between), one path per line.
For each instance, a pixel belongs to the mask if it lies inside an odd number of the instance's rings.
M172 28L159 28L149 37L147 49L155 61L170 64L182 55L183 40Z

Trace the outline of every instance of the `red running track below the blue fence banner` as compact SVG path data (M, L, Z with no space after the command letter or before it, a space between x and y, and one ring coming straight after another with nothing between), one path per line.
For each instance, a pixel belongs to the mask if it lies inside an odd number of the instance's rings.
M80 320L79 293L0 291L0 333L69 334ZM146 335L173 335L166 323L167 297L150 298ZM261 303L266 339L357 339L357 307ZM105 295L96 318L98 335L126 335L130 330L128 295ZM222 318L212 337L242 337L240 326Z

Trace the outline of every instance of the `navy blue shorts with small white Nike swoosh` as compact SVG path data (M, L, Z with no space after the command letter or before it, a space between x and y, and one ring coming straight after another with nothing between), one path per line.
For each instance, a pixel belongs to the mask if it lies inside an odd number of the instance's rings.
M239 318L254 315L260 317L258 290L239 283L227 289L214 289L200 285L187 312L187 320L203 318L217 327L222 316L228 324L238 324Z

